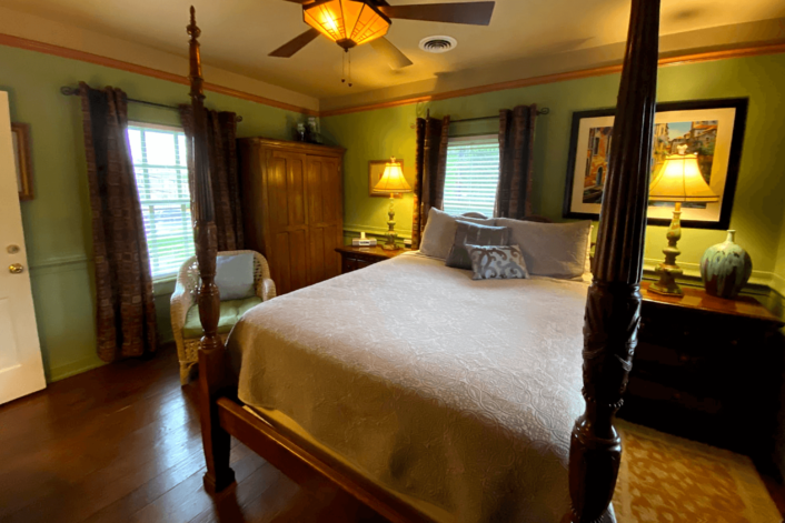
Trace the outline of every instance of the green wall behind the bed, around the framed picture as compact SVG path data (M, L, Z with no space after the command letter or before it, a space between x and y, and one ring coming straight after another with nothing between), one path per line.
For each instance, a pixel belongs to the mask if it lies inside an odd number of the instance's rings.
M574 111L614 107L619 74L586 78L429 103L400 105L321 119L322 133L347 148L345 158L345 224L347 231L381 232L386 202L368 197L368 160L390 155L404 159L407 177L413 177L417 117L427 109L434 117L454 119L485 117L501 108L537 103L550 114L537 119L535 139L534 211L562 220L572 114ZM772 279L773 271L785 272L785 54L774 54L659 69L659 101L749 97L749 114L732 215L737 242L749 252L754 276ZM460 124L458 124L460 125ZM496 129L490 128L490 132ZM455 133L467 133L456 128ZM397 203L397 230L411 233L411 195ZM647 231L646 258L663 258L666 228ZM782 235L782 239L781 239ZM685 272L698 269L704 250L725 239L723 231L684 230L679 264ZM779 260L777 260L779 244ZM782 280L781 280L782 281Z

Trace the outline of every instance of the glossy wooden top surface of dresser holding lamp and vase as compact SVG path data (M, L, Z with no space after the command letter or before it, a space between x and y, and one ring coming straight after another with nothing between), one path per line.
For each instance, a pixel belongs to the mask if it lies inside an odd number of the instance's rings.
M708 295L703 289L694 289L688 286L682 288L684 291L683 296L665 296L655 292L649 292L648 288L652 283L653 282L650 281L644 281L640 283L640 294L643 294L644 301L667 303L676 306L686 306L688 309L719 312L736 316L755 318L758 320L778 323L779 325L785 324L779 318L772 314L768 309L763 306L763 304L761 304L761 302L753 296L738 296L734 300L726 300L724 298Z

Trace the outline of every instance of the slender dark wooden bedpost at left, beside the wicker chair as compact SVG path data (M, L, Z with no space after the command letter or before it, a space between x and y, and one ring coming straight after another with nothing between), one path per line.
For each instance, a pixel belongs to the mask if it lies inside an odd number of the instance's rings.
M205 93L202 92L201 57L197 39L201 31L196 24L196 11L191 6L191 22L187 28L189 41L191 107L193 108L193 227L197 260L199 261L199 320L205 335L199 345L199 402L201 439L205 445L205 490L209 493L222 491L235 482L235 471L229 467L229 433L218 421L216 401L226 385L226 349L218 335L220 296L216 285L216 219L207 158L207 129L205 129Z

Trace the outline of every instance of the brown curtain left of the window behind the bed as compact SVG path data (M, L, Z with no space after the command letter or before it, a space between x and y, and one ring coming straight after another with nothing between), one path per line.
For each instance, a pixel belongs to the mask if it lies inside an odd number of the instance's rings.
M419 249L430 208L444 209L449 117L441 120L418 118L416 127L417 155L415 158L411 249Z

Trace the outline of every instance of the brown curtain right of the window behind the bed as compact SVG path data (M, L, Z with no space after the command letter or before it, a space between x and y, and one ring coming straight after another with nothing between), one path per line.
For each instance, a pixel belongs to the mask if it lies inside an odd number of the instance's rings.
M534 123L537 105L499 111L499 185L494 217L520 219L531 214Z

